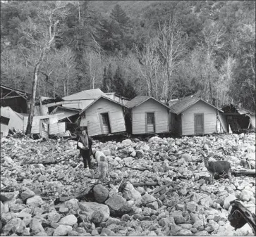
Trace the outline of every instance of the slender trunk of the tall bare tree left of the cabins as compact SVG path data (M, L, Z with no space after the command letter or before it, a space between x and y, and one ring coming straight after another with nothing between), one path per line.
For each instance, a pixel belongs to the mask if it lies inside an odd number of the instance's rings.
M40 58L35 65L35 70L34 70L34 76L33 76L33 82L32 82L32 101L30 105L30 113L28 115L28 125L25 134L31 134L31 128L32 128L32 122L33 122L33 117L34 117L34 111L35 111L35 94L37 93L37 79L38 79L38 73L39 73L39 68L40 65L42 64L42 60L44 59L44 53L45 53L45 47L42 49L42 53L40 55Z

